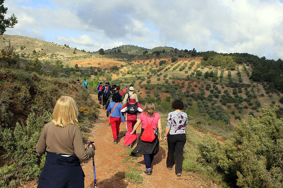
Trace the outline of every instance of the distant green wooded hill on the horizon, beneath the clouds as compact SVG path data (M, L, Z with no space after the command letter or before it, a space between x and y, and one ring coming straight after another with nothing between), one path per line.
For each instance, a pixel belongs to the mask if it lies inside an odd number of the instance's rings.
M149 54L151 54L154 51L162 51L165 50L165 52L169 52L171 50L174 50L172 47L155 47L152 49L147 49L139 46L134 46L134 45L122 45L119 47L115 47L109 50L106 50L106 52L114 52L115 50L121 50L123 53L131 54L131 55L142 55L143 52L147 51Z

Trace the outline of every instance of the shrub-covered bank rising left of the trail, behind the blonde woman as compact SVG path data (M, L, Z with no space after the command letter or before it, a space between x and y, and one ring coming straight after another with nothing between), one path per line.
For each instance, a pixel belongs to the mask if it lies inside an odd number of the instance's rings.
M37 180L45 161L35 146L42 126L51 120L60 96L71 96L79 107L77 126L86 140L99 105L73 78L53 78L22 69L0 69L0 186L17 187Z

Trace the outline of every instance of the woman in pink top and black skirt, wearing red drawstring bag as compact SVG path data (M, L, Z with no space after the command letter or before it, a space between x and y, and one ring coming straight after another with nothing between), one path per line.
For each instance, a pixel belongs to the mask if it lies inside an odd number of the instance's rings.
M159 151L159 142L162 141L162 127L161 127L161 119L160 115L155 112L155 106L153 102L147 102L143 109L143 112L138 117L137 123L134 125L133 131L131 134L138 129L138 126L141 124L141 134L138 138L137 147L134 148L132 154L140 153L143 154L145 160L145 173L147 175L152 174L151 164L153 161L154 155ZM141 140L141 135L145 130L147 125L152 125L155 139L152 142L145 142ZM158 129L157 129L158 128ZM159 138L157 136L157 130L159 132Z

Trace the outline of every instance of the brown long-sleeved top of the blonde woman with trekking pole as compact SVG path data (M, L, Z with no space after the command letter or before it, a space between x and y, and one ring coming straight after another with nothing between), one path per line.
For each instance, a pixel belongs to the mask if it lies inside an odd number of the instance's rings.
M36 152L43 154L45 151L56 154L73 155L79 159L87 160L94 156L94 149L90 147L85 150L82 140L82 133L75 125L59 127L49 122L43 126Z

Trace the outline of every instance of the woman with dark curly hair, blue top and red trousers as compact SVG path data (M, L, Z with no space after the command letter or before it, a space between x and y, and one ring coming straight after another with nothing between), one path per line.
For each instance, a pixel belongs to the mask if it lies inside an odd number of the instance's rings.
M121 102L121 95L119 93L114 93L112 95L112 101L110 102L106 111L106 116L110 116L110 124L111 124L111 129L113 133L113 138L114 144L117 144L118 142L118 135L120 131L120 124L121 120L124 123L124 116L122 115L122 112L120 109L122 108Z

